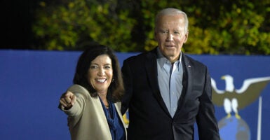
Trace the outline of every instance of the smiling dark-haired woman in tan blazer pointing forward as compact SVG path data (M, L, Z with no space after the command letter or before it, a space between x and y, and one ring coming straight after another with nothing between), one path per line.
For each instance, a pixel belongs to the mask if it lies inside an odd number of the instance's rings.
M104 45L85 50L73 83L60 97L60 109L68 116L72 140L126 139L120 111L123 79L113 51Z

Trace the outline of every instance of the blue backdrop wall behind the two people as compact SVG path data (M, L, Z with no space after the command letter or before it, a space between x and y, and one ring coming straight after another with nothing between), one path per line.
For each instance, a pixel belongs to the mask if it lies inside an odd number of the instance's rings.
M123 59L136 54L116 53L121 64ZM74 51L0 50L1 139L70 139L67 116L58 109L58 101L60 94L72 85L79 55L81 52ZM247 78L270 76L270 56L191 57L208 66L220 90L225 89L224 80L220 77L226 74L234 77L236 89L241 88ZM231 140L236 135L252 140L269 139L270 84L254 100L238 110L241 122L233 119L234 113L231 120L226 120L224 107L215 106L224 139ZM262 123L258 123L260 118Z

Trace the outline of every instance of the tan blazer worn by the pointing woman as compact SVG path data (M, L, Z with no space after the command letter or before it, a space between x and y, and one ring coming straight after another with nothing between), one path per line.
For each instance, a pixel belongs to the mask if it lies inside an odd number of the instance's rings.
M76 102L71 109L65 110L62 108L62 111L68 115L68 126L72 140L112 139L100 99L91 97L88 90L81 85L72 85L68 91L76 95ZM123 123L120 111L121 103L117 102L114 105ZM125 123L123 123L123 126L125 127ZM126 127L124 129L126 132Z

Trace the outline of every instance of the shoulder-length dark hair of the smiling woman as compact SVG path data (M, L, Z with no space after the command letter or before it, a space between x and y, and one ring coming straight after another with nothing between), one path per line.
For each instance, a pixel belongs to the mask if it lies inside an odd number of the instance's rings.
M109 85L107 99L112 102L119 102L124 93L121 69L114 51L105 45L90 46L81 54L76 66L73 83L86 87L91 97L97 97L97 91L88 83L87 72L93 59L99 55L108 55L112 59L113 80Z

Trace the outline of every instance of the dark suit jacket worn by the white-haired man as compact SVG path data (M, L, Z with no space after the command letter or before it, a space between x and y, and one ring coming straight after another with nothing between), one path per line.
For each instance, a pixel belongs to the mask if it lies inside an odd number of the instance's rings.
M172 118L158 89L156 57L157 48L123 62L121 112L128 109L128 140L191 140L195 122L201 140L220 139L206 66L182 53L183 89Z

